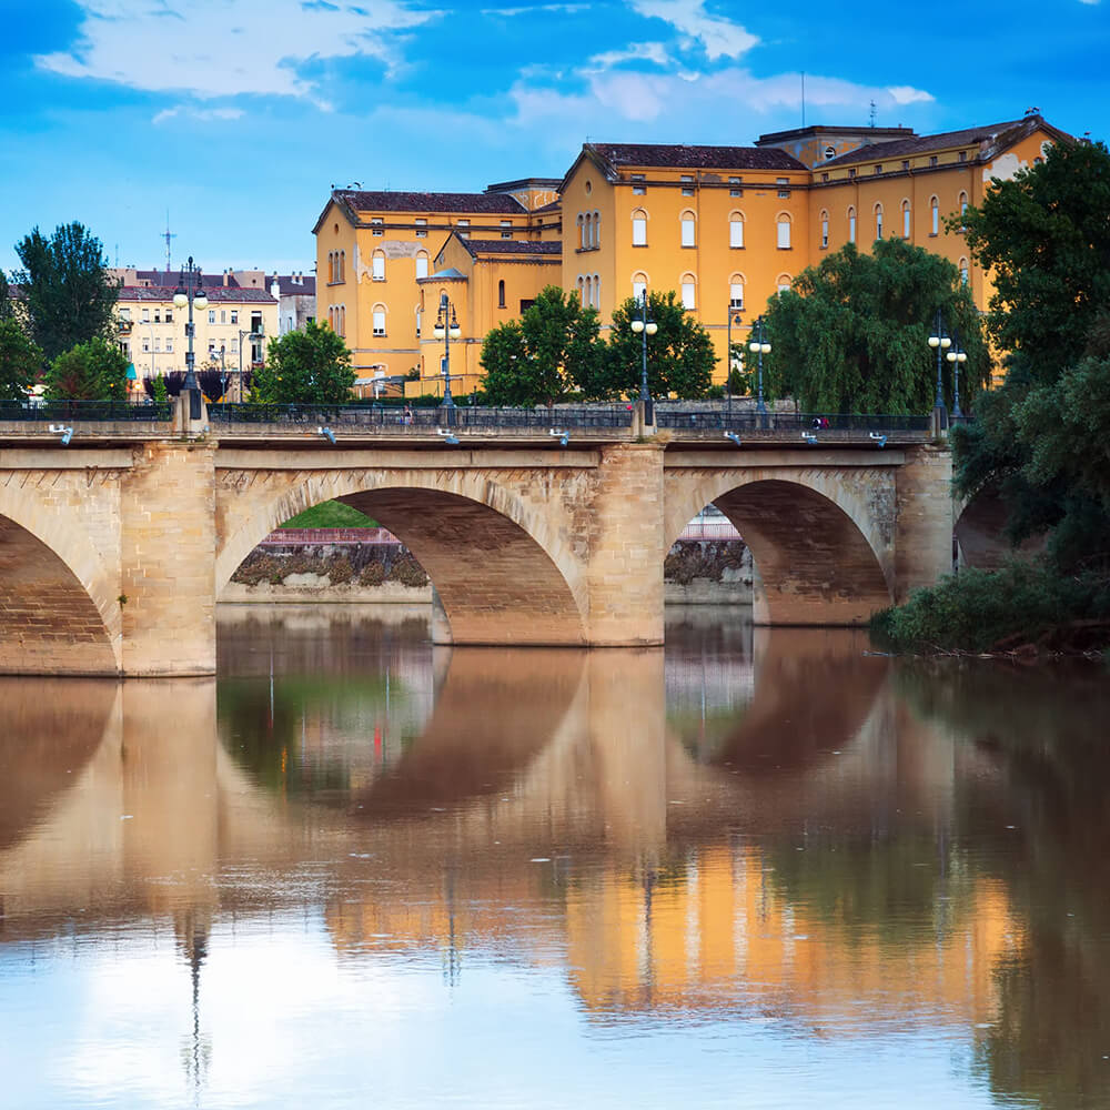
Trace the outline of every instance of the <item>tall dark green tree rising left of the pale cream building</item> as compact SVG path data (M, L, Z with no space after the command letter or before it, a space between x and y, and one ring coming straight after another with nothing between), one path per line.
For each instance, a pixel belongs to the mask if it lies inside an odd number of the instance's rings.
M31 339L52 362L63 351L112 333L119 284L108 274L100 240L67 223L47 239L38 228L16 244L23 269L14 275L26 296Z

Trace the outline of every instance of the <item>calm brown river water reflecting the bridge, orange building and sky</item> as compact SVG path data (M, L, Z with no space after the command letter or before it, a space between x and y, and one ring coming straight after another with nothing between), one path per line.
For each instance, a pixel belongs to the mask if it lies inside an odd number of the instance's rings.
M0 679L0 1106L1110 1107L1110 680L672 614Z

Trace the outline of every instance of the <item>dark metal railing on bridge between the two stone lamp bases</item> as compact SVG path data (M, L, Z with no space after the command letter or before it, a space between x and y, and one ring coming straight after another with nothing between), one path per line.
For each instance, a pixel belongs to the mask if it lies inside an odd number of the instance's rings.
M315 424L340 428L452 427L472 428L619 428L632 427L633 411L624 405L591 408L404 408L375 404L209 406L209 420L221 424Z

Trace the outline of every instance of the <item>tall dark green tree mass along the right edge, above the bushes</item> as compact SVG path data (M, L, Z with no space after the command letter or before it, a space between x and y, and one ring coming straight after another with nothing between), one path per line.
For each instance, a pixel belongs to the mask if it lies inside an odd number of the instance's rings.
M1070 568L1110 552L1110 152L1059 142L960 222L1010 353L1002 386L953 432L957 488L998 490L1010 538L1045 534Z

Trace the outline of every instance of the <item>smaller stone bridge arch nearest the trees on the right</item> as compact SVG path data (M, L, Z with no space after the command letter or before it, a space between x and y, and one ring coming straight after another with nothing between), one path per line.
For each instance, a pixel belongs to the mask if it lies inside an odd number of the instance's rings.
M870 468L668 473L666 549L715 504L757 572L756 624L858 625L892 602L895 483Z

